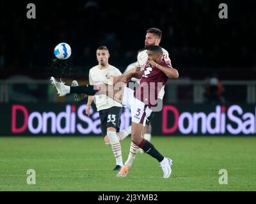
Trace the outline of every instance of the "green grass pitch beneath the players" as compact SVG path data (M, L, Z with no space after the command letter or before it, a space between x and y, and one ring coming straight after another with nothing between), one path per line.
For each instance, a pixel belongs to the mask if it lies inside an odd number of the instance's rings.
M127 159L131 138L122 141ZM153 136L173 159L163 179L156 159L138 154L127 177L116 178L111 148L100 136L0 137L0 191L255 191L256 137ZM27 170L36 184L26 183ZM219 170L228 184L219 184Z

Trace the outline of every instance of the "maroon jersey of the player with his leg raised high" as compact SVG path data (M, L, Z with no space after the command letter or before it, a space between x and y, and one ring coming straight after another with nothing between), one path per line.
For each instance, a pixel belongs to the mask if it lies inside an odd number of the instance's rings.
M171 66L164 61L161 61L159 64L171 68ZM150 107L156 106L158 94L167 80L168 77L163 71L146 66L144 68L144 74L140 79L140 86L134 92L134 97Z

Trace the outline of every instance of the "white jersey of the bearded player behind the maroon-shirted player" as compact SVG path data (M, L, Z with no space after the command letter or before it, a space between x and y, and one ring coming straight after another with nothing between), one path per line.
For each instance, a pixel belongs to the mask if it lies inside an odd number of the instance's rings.
M162 48L162 50L163 50L163 59L164 59L164 61L165 62L170 62L170 65L172 67L171 60L169 58L168 52L166 50L164 50L164 48ZM137 62L136 62L136 67L138 67L141 70L143 70L145 68L146 64L147 64L147 61L148 61L147 50L143 50L143 51L141 51L138 54ZM164 98L164 85L163 85L161 91L158 94L158 98L159 99L163 99Z

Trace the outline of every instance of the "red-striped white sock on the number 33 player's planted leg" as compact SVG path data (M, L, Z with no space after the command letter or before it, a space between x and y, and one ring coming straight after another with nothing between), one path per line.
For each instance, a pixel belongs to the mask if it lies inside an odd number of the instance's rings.
M123 159L122 159L121 144L116 136L116 132L108 131L107 135L108 135L109 141L111 143L113 154L116 157L116 165L123 166L124 164L123 164Z

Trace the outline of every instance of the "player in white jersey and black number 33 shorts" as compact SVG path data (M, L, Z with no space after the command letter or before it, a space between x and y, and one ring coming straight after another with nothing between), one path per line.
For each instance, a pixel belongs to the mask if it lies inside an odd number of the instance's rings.
M107 77L109 75L115 77L122 75L119 69L109 64L108 59L110 55L107 47L101 46L97 48L96 55L99 64L93 66L89 71L90 85L108 84ZM73 81L72 85L77 86L78 83ZM77 95L78 94L76 94L76 97ZM76 101L79 101L79 99L76 99ZM90 115L92 101L95 101L97 112L99 112L100 115L100 129L104 136L104 141L106 145L111 145L113 154L116 158L116 166L113 170L120 170L123 166L120 140L123 140L131 134L131 126L119 132L120 117L123 109L122 105L106 95L88 96L86 115Z

